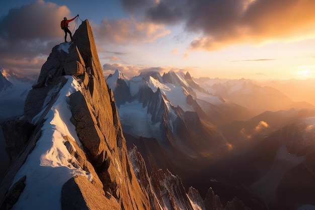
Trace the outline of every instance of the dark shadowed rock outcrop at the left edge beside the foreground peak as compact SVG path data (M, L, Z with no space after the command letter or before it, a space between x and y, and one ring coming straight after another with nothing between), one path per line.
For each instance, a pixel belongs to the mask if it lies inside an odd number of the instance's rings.
M3 121L1 126L5 136L7 153L10 160L13 161L24 149L35 126L21 117L9 118Z

